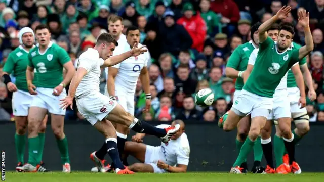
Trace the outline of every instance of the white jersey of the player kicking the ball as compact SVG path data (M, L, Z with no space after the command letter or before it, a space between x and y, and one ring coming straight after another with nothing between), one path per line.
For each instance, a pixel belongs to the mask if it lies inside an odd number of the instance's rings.
M82 78L80 84L76 88L75 98L80 95L87 95L91 92L100 92L100 66L103 65L104 60L99 58L97 50L88 48L87 51L82 53L79 57L76 70L85 68L87 74Z

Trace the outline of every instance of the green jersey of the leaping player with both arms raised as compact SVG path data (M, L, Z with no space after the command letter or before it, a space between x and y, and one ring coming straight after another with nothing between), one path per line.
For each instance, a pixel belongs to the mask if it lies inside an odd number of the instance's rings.
M260 43L254 68L243 89L253 94L272 98L274 91L287 71L299 61L298 49L288 48L279 53L270 38Z

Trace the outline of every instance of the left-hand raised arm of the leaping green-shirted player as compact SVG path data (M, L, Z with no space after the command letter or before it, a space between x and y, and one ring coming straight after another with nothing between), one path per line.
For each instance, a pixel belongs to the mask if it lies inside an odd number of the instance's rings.
M278 20L285 19L291 10L292 10L292 8L290 6L287 6L287 7L283 6L277 12L277 14L275 14L272 18L270 18L269 20L265 21L264 23L262 23L260 25L260 27L258 28L260 43L263 43L267 39L267 37L268 37L267 30L272 26L272 24L274 24Z

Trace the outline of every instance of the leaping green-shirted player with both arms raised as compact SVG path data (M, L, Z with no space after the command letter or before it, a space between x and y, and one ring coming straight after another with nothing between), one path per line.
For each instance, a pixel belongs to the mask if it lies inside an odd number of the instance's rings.
M302 16L300 22L305 30L306 45L299 50L288 49L291 44L293 34L287 30L280 31L280 38L277 44L267 36L267 29L271 27L277 20L285 19L291 8L288 6L282 7L275 16L264 22L258 29L260 48L254 69L249 76L249 79L243 76L245 85L241 94L234 101L231 110L228 113L226 120L223 120L223 129L230 131L237 126L239 120L251 112L251 127L249 136L243 144L241 151L231 168L232 173L241 173L239 165L244 162L248 153L252 149L255 140L264 127L267 117L273 108L273 94L282 77L287 71L300 59L304 58L313 50L314 44L308 26L308 16ZM303 14L304 15L304 14ZM223 118L221 118L222 120ZM290 156L290 165L287 165L287 170L294 166L294 170L299 166L295 161L295 145L291 130L283 133L285 146Z

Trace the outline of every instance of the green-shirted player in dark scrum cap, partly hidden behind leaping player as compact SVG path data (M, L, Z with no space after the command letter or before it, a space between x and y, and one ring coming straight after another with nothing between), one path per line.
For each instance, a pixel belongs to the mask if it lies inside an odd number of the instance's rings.
M251 27L251 40L247 43L239 45L231 54L229 57L229 60L226 65L226 76L230 78L236 78L235 82L235 93L234 93L234 101L239 96L242 87L243 87L243 78L242 73L247 69L248 66L248 60L249 56L252 53L253 50L259 48L259 33L258 28L261 25L260 22L254 24ZM244 144L244 141L246 140L248 136L248 131L250 128L250 122L251 122L251 115L242 118L238 124L237 124L237 135L236 135L236 149L239 153L242 145ZM219 127L222 128L223 125L221 122L218 123ZM261 165L261 159L263 156L263 151L261 147L260 137L258 137L256 144L253 147L254 150L254 165L252 167L252 172L257 172L257 169L262 168ZM243 168L243 172L248 171L248 165L247 160L245 160L240 167Z

